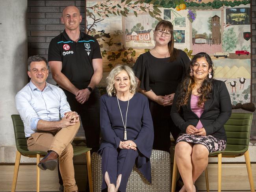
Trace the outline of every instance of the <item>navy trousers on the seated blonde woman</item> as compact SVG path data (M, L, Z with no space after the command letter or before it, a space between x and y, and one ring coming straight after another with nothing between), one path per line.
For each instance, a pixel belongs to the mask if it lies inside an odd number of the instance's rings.
M114 149L106 147L102 149L101 154L101 170L102 170L102 186L101 190L107 187L105 182L105 173L108 172L110 183L117 185L117 177L122 174L120 192L126 191L126 185L129 176L134 167L135 160L138 157L138 151L126 149Z

